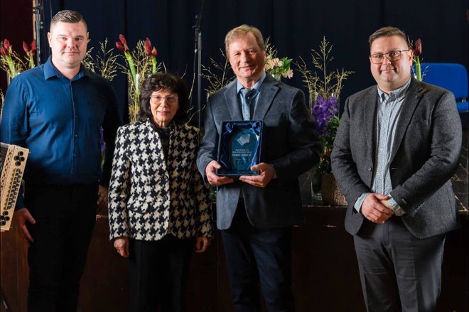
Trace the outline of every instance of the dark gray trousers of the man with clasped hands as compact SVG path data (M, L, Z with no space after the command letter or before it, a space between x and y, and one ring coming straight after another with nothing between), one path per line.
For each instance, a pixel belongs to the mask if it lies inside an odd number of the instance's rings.
M446 235L412 235L401 217L365 220L354 236L367 311L436 311Z

